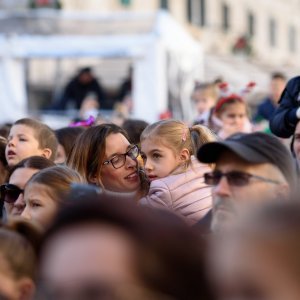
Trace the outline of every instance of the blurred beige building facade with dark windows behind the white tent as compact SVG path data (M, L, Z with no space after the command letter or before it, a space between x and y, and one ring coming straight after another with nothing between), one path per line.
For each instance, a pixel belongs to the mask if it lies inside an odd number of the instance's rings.
M270 66L300 62L299 0L61 0L66 11L169 12L199 40L206 53L237 52ZM175 38L175 37L174 37ZM240 42L243 42L240 41ZM237 45L239 46L239 44Z

